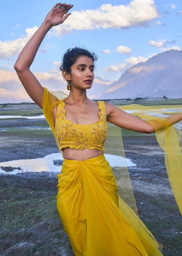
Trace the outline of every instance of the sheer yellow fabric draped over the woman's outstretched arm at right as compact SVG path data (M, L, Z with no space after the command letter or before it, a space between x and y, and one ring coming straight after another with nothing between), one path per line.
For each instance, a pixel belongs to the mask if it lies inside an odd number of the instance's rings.
M169 182L182 214L182 122L173 125L167 119L161 118L182 112L182 105L147 107L132 104L119 106L119 108L140 117L155 127L157 141L165 152Z

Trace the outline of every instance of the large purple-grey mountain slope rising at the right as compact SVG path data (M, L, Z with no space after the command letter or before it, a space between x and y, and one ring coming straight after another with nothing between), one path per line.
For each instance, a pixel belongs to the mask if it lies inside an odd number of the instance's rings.
M182 98L182 50L159 53L126 70L100 99Z

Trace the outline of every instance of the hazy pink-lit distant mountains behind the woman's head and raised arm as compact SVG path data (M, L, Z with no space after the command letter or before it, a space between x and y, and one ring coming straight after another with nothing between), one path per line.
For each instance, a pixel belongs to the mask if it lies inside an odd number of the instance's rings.
M41 85L47 87L50 91L63 91L64 93L68 93L67 83L61 75L55 78L50 76L50 74L34 74ZM111 81L105 81L95 76L92 88L87 90L88 97L98 99L111 83ZM0 104L20 102L32 102L32 99L30 99L26 93L15 72L0 70Z

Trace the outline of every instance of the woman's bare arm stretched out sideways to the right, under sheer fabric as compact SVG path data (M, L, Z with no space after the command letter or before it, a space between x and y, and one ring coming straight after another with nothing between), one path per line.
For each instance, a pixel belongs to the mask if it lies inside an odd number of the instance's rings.
M163 125L157 120L150 120L149 122L146 122L137 116L128 114L127 112L121 110L120 108L117 108L112 104L105 103L105 105L107 112L107 121L121 128L146 134L155 132L155 130L164 129ZM164 119L169 121L168 123L170 126L182 120L182 113L167 116L164 117Z

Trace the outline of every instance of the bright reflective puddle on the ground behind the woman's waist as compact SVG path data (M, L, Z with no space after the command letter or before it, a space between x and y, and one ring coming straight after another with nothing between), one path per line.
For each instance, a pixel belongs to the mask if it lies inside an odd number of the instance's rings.
M136 166L124 157L118 157L115 155L104 154L107 161L111 166L126 166L126 161L128 166ZM41 171L51 171L51 172L61 172L61 166L54 165L54 160L62 160L60 153L50 154L43 158L36 159L21 159L8 162L1 162L1 167L12 167L12 171L4 171L0 168L0 173L3 174L16 174L21 172L41 172ZM18 169L16 169L18 168Z

